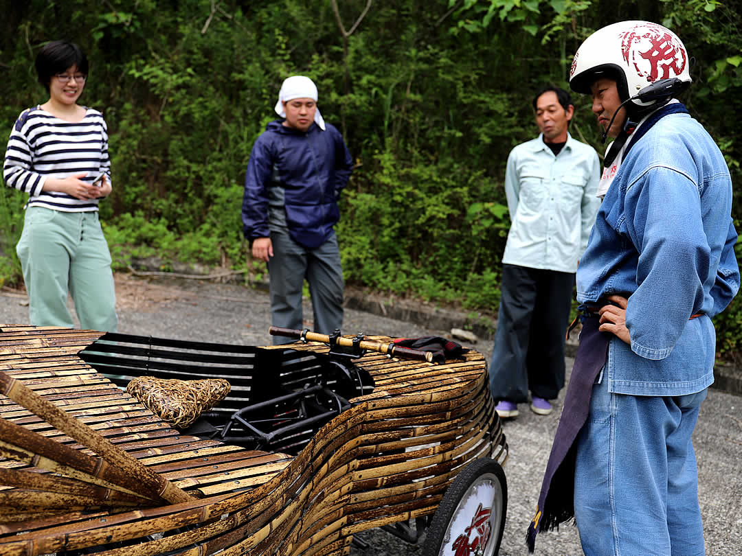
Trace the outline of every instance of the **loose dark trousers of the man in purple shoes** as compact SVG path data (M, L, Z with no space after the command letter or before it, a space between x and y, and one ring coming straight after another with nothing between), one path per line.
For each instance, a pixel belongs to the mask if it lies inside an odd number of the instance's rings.
M564 387L565 332L574 274L502 265L502 295L490 362L495 400L554 400Z

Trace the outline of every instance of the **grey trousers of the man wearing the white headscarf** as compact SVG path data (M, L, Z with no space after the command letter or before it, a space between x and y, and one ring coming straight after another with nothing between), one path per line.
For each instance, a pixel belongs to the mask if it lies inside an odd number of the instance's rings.
M301 330L303 311L301 292L304 279L312 297L314 331L332 334L343 325L343 269L335 232L316 249L306 249L287 232L271 231L273 257L268 262L270 274L271 318L274 326ZM293 342L274 336L273 343Z

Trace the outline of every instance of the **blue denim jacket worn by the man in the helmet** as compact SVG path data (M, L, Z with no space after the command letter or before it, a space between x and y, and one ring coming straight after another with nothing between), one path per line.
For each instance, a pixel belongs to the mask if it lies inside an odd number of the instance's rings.
M731 210L723 155L688 114L664 116L632 146L577 269L583 304L628 298L631 346L611 340L611 392L678 396L713 383L711 317L740 284Z

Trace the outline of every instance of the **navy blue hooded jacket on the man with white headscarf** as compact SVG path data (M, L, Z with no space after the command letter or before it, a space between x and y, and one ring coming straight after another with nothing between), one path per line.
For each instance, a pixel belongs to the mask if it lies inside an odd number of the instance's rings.
M340 132L312 124L305 132L270 122L252 147L245 175L242 222L245 238L269 237L269 187L284 191L289 234L315 249L340 219L338 197L348 182L352 158Z

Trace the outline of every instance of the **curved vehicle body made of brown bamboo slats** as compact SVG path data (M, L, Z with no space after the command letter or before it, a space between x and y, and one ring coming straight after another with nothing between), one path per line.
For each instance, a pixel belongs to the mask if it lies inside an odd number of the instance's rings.
M105 454L0 397L0 455L8 458L0 459L1 555L87 547L107 556L347 555L357 532L433 514L470 460L505 463L508 455L475 351L440 365L361 357L355 364L374 391L291 457L188 437L163 423L77 357L101 335L0 326L0 370L24 386L19 399L31 391L63 408L56 425L84 423L147 469L137 477L154 475L187 498L165 503L142 494L144 480L123 488L115 474L98 479L88 467ZM312 342L291 347L327 351Z

